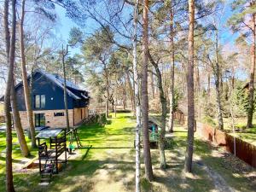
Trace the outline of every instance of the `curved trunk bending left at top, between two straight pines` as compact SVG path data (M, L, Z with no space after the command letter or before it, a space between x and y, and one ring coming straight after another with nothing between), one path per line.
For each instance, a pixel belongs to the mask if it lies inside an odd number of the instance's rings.
M159 137L159 150L160 150L160 168L166 169L166 154L165 154L165 141L166 141L166 113L167 113L167 102L166 102L166 96L165 91L163 89L162 84L162 75L160 73L160 69L158 67L158 64L154 62L154 59L148 52L149 60L151 61L152 65L154 66L156 77L157 77L157 86L160 92L160 102L161 102L161 131L160 131L160 137Z

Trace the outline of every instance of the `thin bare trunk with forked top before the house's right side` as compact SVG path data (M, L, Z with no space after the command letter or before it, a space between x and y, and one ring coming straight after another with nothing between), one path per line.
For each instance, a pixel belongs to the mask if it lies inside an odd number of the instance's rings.
M66 115L66 124L67 124L67 131L70 130L69 127L69 116L68 116L68 106L67 106L67 82L66 82L66 67L65 67L65 56L68 52L68 46L66 48L66 53L64 50L64 46L62 44L62 70L63 70L63 78L64 78L64 104L65 104L65 115Z

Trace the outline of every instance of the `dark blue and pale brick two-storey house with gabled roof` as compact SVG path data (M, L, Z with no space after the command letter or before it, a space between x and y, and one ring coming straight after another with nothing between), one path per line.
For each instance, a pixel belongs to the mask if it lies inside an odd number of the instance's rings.
M28 77L32 79L32 111L36 127L64 128L67 126L64 103L64 79L57 74L46 73L38 69ZM29 128L26 114L26 102L22 81L15 86L20 120L24 129ZM3 97L1 98L3 101ZM69 126L83 122L89 114L90 96L88 91L67 81L67 108Z

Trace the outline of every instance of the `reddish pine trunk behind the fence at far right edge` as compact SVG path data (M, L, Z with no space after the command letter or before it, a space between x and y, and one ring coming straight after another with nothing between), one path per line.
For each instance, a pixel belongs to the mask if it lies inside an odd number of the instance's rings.
M250 72L250 83L249 83L249 108L247 113L247 128L253 127L253 112L254 112L254 72L255 72L255 48L256 48L256 27L255 27L255 14L253 14L253 45L251 49L251 72Z

